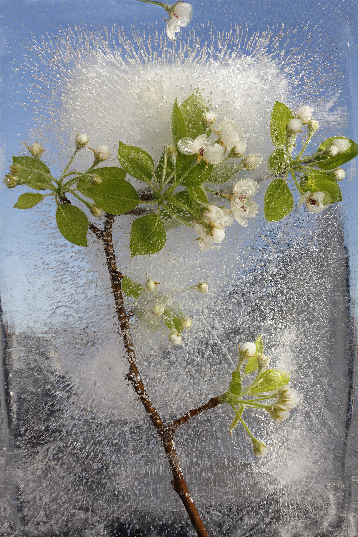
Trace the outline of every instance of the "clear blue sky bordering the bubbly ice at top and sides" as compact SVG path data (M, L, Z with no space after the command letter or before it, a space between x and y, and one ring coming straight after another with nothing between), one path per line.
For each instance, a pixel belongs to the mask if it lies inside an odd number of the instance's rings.
M340 77L340 102L335 105L343 106L344 122L337 125L340 134L348 135L356 140L357 135L357 35L356 11L357 4L346 2L312 2L310 0L286 0L277 2L261 2L245 0L241 2L210 2L209 0L194 0L191 2L194 10L192 26L196 27L196 35L203 40L209 37L210 29L227 32L236 24L247 25L248 32L261 32L268 27L274 34L283 25L283 31L297 27L296 43L305 43L311 51L322 57L322 62L334 63L337 66L335 76ZM69 25L98 25L119 24L130 35L133 28L151 33L154 30L164 30L162 19L165 12L155 5L144 4L135 0L101 0L101 2L73 2L55 0L52 2L25 2L1 0L1 164L2 175L6 173L11 163L11 155L18 153L20 141L26 139L27 131L33 125L33 117L21 107L21 102L27 100L30 87L30 71L14 68L23 61L26 53L26 40L41 42L46 33L57 35L61 28ZM185 33L185 31L184 31ZM292 43L292 39L291 39ZM282 42L283 47L283 42ZM288 51L285 51L288 53ZM358 281L358 250L356 222L358 217L358 197L356 195L356 163L345 166L347 179L344 190L344 206L347 214L345 221L346 240L352 259L353 281ZM18 194L18 192L16 192ZM1 186L1 219L2 219L2 257L0 258L3 271L2 281L3 301L6 302L6 289L9 288L11 274L18 273L18 255L28 255L36 250L36 240L24 245L18 240L23 226L27 226L32 216L12 208L17 198L14 191ZM28 248L28 250L26 250ZM27 253L26 253L27 252ZM9 262L10 260L10 262ZM21 278L25 278L23 274ZM356 293L356 287L354 287ZM13 301L13 299L11 299ZM10 304L10 300L8 299ZM21 306L24 307L24 304ZM9 306L10 308L10 306ZM6 309L6 308L5 308ZM11 308L10 308L11 309Z

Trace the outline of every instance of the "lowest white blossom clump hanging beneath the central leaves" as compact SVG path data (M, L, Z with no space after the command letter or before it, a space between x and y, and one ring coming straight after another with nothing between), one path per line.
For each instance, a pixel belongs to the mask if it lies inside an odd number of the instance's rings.
M215 243L221 243L225 237L225 227L231 226L233 216L227 207L207 205L204 208L201 220L194 220L192 226L200 237L200 249L207 251L218 249Z

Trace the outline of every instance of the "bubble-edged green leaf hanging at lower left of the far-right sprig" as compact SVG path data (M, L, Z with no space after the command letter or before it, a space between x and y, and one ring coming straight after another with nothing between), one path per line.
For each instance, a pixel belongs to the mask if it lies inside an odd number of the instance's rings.
M294 198L283 179L274 179L267 187L264 215L268 222L277 222L288 215L294 206Z

